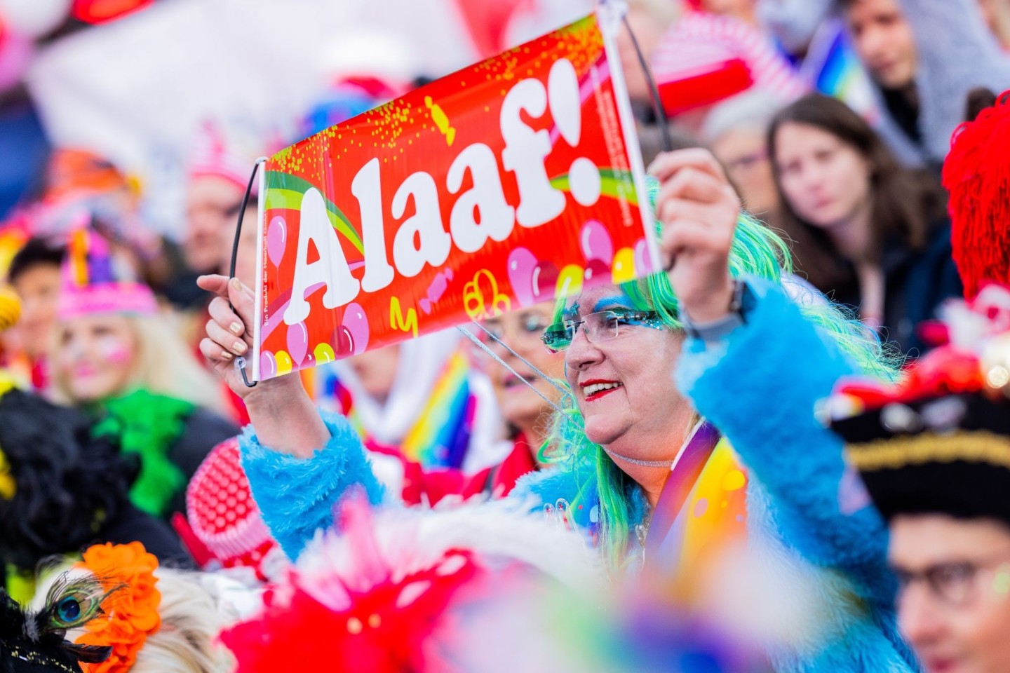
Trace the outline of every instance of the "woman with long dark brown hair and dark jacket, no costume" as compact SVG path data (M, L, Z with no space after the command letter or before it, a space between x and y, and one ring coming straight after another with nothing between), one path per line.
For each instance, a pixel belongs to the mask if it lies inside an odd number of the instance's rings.
M962 295L938 183L902 169L862 117L821 95L775 116L769 153L800 270L902 352L920 354L916 325Z

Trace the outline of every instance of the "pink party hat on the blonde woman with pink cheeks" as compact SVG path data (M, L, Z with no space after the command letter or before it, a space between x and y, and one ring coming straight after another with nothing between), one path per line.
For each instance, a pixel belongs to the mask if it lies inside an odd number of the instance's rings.
M71 233L62 274L60 320L96 313L158 313L150 288L138 282L129 265L112 254L108 241L90 228Z

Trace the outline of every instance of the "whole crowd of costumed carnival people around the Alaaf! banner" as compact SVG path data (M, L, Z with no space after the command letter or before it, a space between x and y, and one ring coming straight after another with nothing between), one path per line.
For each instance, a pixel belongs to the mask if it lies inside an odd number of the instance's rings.
M246 385L284 143L201 127L178 241L54 150L0 226L0 671L1010 669L1010 4L627 4L664 270L472 338Z

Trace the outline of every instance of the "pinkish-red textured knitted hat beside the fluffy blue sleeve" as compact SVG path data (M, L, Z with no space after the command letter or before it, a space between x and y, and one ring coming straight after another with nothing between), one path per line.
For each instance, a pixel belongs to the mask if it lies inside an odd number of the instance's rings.
M284 553L270 535L238 460L238 438L218 444L186 489L186 514L196 538L225 568L252 568L261 580L276 575Z

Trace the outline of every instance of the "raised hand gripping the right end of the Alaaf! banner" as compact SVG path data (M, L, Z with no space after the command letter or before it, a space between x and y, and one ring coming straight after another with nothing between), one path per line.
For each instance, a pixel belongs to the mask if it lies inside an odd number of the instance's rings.
M733 298L729 249L740 202L707 149L660 154L648 169L661 183L660 251L681 310L706 323L726 315Z

